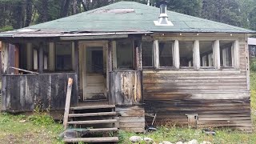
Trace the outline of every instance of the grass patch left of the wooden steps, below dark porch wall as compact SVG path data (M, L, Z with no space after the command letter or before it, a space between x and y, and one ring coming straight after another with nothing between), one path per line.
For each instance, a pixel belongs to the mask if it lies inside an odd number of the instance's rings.
M0 114L0 143L63 143L62 125L47 114Z

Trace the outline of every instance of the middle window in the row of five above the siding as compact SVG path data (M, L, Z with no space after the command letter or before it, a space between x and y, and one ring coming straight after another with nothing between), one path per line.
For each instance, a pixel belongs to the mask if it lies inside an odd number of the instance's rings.
M194 66L193 42L179 42L180 66Z

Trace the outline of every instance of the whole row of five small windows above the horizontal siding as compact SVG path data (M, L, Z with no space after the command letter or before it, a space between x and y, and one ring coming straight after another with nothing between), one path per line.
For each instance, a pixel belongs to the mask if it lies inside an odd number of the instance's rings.
M220 42L220 60L222 67L234 66L234 42ZM214 67L214 42L199 42L200 66ZM194 67L194 42L178 42L180 67ZM174 67L174 42L158 42L159 66ZM142 66L154 66L154 42L142 42Z

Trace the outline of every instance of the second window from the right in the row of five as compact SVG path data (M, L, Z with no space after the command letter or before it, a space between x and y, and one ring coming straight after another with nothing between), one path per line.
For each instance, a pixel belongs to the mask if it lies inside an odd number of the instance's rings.
M213 42L200 42L200 59L202 67L213 67Z

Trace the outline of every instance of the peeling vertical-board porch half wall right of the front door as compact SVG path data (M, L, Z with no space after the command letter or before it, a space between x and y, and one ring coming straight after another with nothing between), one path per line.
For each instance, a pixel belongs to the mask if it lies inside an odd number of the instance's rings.
M110 72L110 102L118 106L141 105L142 71Z

